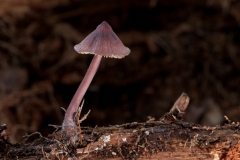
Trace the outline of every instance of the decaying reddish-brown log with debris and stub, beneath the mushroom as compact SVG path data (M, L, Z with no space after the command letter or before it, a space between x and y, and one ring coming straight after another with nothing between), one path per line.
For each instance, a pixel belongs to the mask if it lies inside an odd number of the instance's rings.
M183 99L182 99L183 98ZM186 103L182 103L186 100ZM179 99L178 99L179 100ZM179 104L187 105L186 94ZM176 102L177 103L177 102ZM206 127L182 120L186 106L175 103L175 109L159 121L128 123L109 127L82 127L82 143L62 141L61 131L49 137L11 144L1 136L1 159L238 159L240 125L227 121L223 126ZM174 107L173 106L173 107ZM176 107L178 106L178 107ZM180 108L181 109L180 109ZM185 108L185 109L183 109ZM6 126L0 128L1 135ZM4 134L5 135L5 134Z

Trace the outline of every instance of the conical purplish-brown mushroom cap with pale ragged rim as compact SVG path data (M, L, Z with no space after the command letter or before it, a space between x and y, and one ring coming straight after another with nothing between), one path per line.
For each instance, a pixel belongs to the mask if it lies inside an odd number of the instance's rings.
M80 54L96 54L110 58L123 58L130 53L111 26L103 21L81 43L74 46Z

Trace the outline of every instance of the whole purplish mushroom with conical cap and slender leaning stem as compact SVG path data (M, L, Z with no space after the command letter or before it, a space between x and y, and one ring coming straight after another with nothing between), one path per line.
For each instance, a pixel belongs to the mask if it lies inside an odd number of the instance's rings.
M78 87L72 101L70 102L62 127L76 127L74 113L77 111L80 102L88 89L100 61L103 57L123 58L130 53L130 49L125 47L118 36L113 32L111 26L103 21L96 30L90 33L81 43L74 46L79 54L94 54L92 62Z

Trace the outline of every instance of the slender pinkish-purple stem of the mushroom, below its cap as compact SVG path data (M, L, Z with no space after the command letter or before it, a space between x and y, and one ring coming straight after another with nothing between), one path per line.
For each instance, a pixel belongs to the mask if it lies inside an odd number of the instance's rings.
M76 93L74 94L72 101L70 102L67 111L65 113L65 117L63 120L62 127L63 129L65 127L75 127L76 124L74 122L74 112L77 111L84 94L86 93L95 73L98 70L98 66L100 64L100 61L102 59L102 56L95 55L93 57L93 60L87 70L87 73L85 74L80 86L78 87Z

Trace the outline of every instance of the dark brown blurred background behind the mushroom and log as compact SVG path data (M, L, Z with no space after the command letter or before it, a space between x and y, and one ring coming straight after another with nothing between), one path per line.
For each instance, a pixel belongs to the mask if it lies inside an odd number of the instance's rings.
M1 0L0 124L11 142L61 125L92 55L73 46L107 21L131 49L104 58L83 126L159 119L185 92L186 120L240 120L240 1Z

